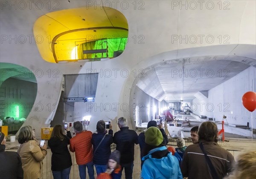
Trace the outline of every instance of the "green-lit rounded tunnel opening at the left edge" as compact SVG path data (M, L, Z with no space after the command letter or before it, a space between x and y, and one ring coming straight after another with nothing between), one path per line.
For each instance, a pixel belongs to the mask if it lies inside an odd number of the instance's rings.
M0 71L0 119L8 134L16 134L35 102L36 78L28 68L12 63L0 63Z

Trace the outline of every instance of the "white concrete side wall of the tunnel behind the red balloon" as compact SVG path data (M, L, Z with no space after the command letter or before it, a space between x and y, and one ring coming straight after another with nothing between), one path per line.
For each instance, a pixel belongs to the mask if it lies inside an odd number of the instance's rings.
M192 110L197 115L213 117L215 121L221 121L225 115L230 124L247 125L249 122L249 127L252 126L251 114L253 114L253 128L256 128L256 111L250 112L242 104L244 93L255 91L255 78L256 68L251 66L235 77L210 89L208 99L201 101L197 98L193 99Z

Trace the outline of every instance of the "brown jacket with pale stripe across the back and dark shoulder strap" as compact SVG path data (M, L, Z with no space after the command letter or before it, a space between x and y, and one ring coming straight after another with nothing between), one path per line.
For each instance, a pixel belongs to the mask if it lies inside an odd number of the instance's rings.
M224 178L232 170L235 162L233 155L215 142L203 142L203 145L219 178ZM189 177L189 179L212 179L199 143L186 148L180 169L183 177Z

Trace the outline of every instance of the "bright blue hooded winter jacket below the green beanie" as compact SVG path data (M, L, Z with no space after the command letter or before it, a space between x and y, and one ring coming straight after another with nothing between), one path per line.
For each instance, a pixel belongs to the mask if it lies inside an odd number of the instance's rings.
M165 146L152 149L142 160L141 179L183 179L178 159Z

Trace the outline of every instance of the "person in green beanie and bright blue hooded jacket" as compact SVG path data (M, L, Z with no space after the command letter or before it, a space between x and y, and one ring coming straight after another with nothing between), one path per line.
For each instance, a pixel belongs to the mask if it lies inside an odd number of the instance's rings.
M177 158L163 145L163 135L156 127L145 131L142 160L141 179L183 179Z

